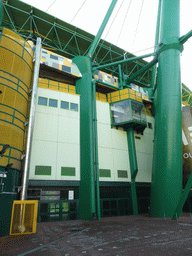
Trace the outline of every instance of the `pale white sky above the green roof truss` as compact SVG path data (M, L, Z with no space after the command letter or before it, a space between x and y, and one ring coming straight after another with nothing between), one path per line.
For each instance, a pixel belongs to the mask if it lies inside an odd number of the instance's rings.
M111 0L23 0L23 2L93 35L97 34L111 4ZM152 53L158 2L159 0L118 0L102 38L135 55ZM192 1L180 0L180 2L180 35L182 36L192 30ZM146 60L150 61L150 59ZM184 44L184 51L181 53L181 81L192 90L191 63L192 38Z

